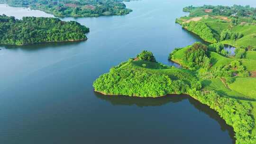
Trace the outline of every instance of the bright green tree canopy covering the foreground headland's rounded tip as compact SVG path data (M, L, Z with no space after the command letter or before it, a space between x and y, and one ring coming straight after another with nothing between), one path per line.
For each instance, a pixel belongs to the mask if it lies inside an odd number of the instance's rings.
M101 75L94 81L94 89L111 95L159 97L169 93L182 93L189 88L184 81L174 81L166 74L138 68L133 66L132 61L121 63L111 68L109 73Z

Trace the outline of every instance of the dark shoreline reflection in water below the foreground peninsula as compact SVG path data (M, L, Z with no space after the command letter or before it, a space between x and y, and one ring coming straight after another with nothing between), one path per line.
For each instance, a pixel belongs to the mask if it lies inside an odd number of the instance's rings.
M172 103L178 103L183 100L188 100L190 104L197 108L201 112L207 114L210 118L216 120L222 131L228 131L229 136L232 137L232 143L235 144L235 134L233 128L226 124L226 122L219 117L218 113L212 110L209 106L206 106L199 101L191 98L189 95L167 95L165 97L159 98L138 98L138 97L128 97L128 96L106 96L98 92L94 92L96 97L110 102L113 106L132 106L136 105L137 107L152 107L152 106L163 106Z

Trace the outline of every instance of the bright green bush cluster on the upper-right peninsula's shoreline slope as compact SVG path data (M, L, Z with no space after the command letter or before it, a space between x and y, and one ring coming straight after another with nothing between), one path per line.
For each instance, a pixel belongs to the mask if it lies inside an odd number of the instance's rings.
M204 22L191 21L189 23L183 24L183 28L192 31L207 42L217 43L217 40L214 38L212 30Z

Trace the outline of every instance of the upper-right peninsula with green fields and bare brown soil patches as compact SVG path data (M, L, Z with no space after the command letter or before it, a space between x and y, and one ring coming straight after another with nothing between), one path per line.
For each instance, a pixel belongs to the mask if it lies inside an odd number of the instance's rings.
M256 50L256 8L250 6L189 6L189 16L177 18L183 28L210 43Z

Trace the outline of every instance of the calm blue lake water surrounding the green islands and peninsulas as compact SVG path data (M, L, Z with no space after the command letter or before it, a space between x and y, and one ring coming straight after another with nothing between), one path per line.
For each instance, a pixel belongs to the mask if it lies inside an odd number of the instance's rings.
M90 27L88 40L0 46L0 144L232 144L233 130L186 95L108 97L92 82L142 50L165 64L175 47L201 41L175 24L182 8L255 0L141 0L126 16L62 18ZM0 14L53 17L0 5Z

